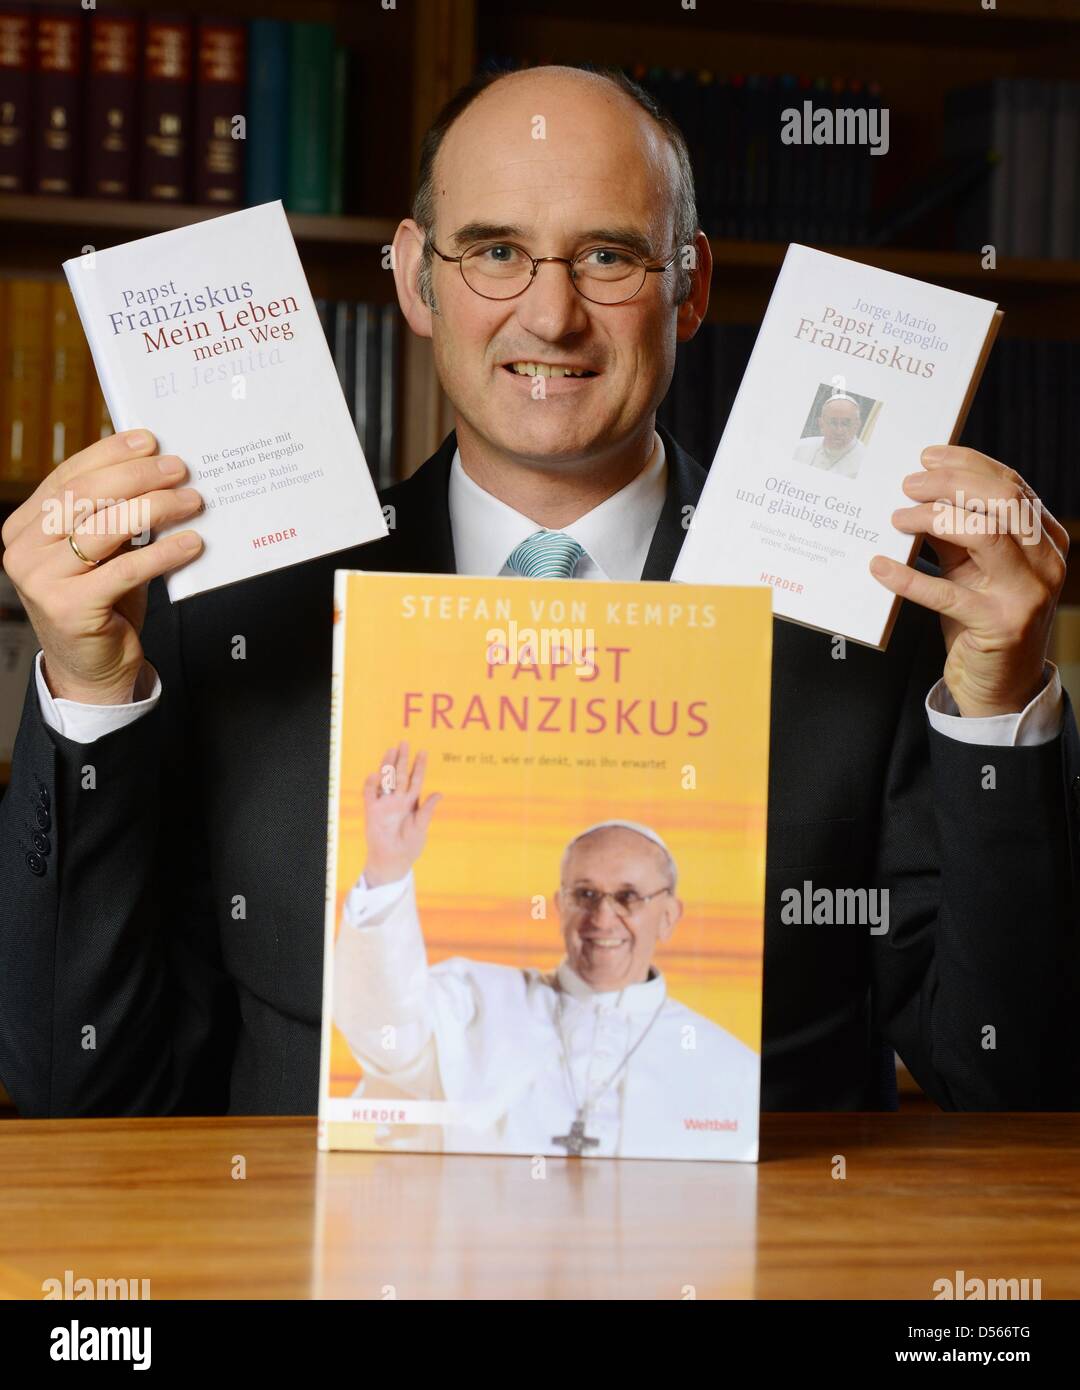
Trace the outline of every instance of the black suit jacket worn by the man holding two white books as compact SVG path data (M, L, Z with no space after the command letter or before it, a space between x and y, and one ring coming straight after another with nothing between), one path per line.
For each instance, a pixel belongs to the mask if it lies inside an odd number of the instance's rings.
M670 578L705 481L660 434L645 580ZM453 573L455 446L385 493L382 541L177 605L154 581L163 695L129 727L72 742L31 682L0 802L0 1079L22 1115L317 1108L334 570ZM934 733L941 631L913 605L888 652L844 659L777 621L773 662L763 1106L894 1105L892 1048L948 1109L1080 1104L1072 710L1040 748ZM888 888L888 933L784 924L806 880Z

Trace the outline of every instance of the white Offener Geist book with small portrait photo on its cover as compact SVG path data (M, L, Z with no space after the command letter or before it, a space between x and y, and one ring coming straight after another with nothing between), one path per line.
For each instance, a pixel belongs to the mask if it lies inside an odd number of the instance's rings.
M899 600L870 560L919 548L902 481L959 434L999 318L789 246L673 578L767 584L777 617L884 649Z

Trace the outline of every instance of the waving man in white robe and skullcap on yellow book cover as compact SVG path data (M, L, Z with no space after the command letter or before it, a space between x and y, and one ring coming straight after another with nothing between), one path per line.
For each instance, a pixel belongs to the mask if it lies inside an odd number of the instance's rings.
M381 773L391 769L384 781ZM334 1022L357 1095L446 1102L385 1125L386 1148L620 1158L758 1156L758 1055L667 995L653 966L682 915L648 826L607 820L563 852L550 973L453 956L428 966L413 865L438 805L425 760L388 753L364 784L367 858L334 954Z

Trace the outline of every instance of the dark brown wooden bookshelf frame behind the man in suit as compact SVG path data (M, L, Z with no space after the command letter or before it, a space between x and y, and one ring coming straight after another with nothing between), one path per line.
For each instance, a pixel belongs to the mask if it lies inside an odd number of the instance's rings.
M79 10L78 0L69 8ZM1080 79L1080 0L125 0L150 14L328 22L359 56L354 118L363 132L349 215L291 215L313 293L395 303L382 247L411 202L423 132L439 106L498 56L510 61L648 64L714 74L859 75L881 85L891 147L876 161L876 200L903 199L942 145L952 88L994 76ZM699 175L701 177L701 175ZM214 208L140 202L0 195L0 277L60 275L86 243L108 246L204 217ZM1004 338L1080 341L1080 263L1004 259L985 271L974 253L951 249L937 214L885 246L828 246L841 254L960 291L1006 310ZM817 243L821 245L821 243ZM712 322L760 317L784 253L778 242L712 238ZM402 334L398 432L406 471L452 427L429 343ZM31 491L0 482L0 514ZM1069 521L1080 539L1080 518ZM1077 549L1080 555L1080 548ZM1080 562L1066 600L1080 600ZM0 781L3 781L0 767Z

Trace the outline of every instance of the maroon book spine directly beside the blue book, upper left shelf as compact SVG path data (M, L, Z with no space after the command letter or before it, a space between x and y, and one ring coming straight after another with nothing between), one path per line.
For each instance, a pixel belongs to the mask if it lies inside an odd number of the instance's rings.
M243 197L247 32L240 24L199 22L195 100L195 197L215 207L239 207Z

